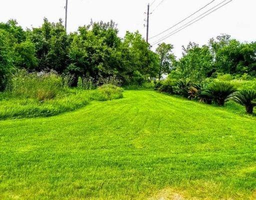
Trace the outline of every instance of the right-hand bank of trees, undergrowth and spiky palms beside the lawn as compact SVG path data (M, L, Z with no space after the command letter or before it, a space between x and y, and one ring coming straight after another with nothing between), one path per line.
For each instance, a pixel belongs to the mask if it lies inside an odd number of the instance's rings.
M229 35L220 35L203 46L190 42L183 46L181 58L171 61L168 78L155 85L159 91L208 104L226 104L231 110L239 110L240 104L247 113L253 113L256 42L241 43Z

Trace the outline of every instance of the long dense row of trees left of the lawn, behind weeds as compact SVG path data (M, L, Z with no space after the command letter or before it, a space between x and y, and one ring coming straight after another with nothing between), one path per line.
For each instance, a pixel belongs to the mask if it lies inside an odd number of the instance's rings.
M138 32L118 35L113 21L91 22L67 34L62 21L46 18L41 27L23 30L15 20L0 23L0 89L16 69L29 72L54 70L59 74L115 77L123 85L142 84L157 77L159 57Z

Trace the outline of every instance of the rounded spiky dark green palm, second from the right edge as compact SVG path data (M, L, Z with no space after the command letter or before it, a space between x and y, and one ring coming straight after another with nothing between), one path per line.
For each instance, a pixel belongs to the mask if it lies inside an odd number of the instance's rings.
M212 82L201 93L222 106L235 91L235 87L228 82Z

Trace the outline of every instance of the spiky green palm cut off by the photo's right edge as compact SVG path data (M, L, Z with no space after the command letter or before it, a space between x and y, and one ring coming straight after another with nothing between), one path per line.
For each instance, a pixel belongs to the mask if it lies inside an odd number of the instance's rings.
M237 92L234 92L229 96L229 99L233 100L240 105L245 106L246 112L249 114L253 113L253 107L256 106L256 91L243 89Z

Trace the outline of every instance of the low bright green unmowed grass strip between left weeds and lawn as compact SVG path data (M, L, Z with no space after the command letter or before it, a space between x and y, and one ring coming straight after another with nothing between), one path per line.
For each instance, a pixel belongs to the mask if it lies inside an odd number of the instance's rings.
M68 91L69 93L44 101L4 96L0 99L0 119L53 116L73 111L94 100L105 101L122 97L120 88L113 89L110 86L103 86L95 90L69 89Z

